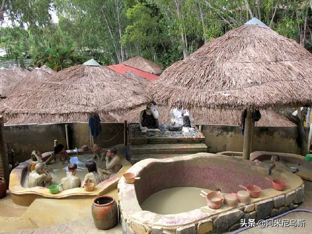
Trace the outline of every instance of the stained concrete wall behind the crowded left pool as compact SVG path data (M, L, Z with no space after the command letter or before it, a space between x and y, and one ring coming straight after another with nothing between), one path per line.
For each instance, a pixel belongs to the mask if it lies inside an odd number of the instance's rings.
M89 139L88 123L67 123L69 125L69 145L71 149L81 146ZM102 133L98 137L101 147L123 143L123 123L101 123ZM117 133L119 133L117 135ZM66 146L65 123L27 124L4 126L4 135L8 150L14 149L15 161L30 158L33 150L41 153L54 150L54 140ZM117 137L115 137L117 135ZM110 140L109 142L103 142ZM90 147L90 143L88 143ZM9 152L10 155L10 152ZM9 156L10 157L10 156Z

